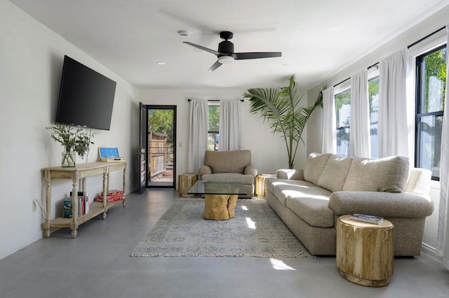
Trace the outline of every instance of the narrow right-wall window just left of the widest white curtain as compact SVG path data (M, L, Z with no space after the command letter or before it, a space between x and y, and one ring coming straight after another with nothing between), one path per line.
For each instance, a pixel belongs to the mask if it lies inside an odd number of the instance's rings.
M370 141L371 157L379 157L377 137L377 114L379 112L379 76L368 80L368 99L370 101Z

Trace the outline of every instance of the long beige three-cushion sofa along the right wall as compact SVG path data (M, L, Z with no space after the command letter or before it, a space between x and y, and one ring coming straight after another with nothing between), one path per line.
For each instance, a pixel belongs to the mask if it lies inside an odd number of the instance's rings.
M303 170L267 179L267 202L312 255L335 255L340 215L382 216L394 224L394 254L420 255L424 222L434 210L431 172L408 158L365 159L313 153Z

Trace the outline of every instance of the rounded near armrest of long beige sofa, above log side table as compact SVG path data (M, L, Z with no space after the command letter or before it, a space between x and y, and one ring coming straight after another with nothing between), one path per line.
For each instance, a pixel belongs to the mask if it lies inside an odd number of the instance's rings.
M335 215L362 213L384 218L423 218L434 211L429 196L410 192L333 192L328 207Z

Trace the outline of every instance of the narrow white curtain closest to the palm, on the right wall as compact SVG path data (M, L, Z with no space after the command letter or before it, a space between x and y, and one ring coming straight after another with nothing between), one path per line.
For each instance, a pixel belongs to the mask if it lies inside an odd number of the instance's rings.
M334 87L323 90L323 136L322 153L337 152L337 120L335 115Z

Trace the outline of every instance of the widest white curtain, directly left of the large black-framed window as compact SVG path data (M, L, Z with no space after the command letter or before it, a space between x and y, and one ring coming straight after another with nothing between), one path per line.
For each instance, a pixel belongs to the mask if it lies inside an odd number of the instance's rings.
M403 49L379 63L379 157L410 157L407 59L408 50Z

